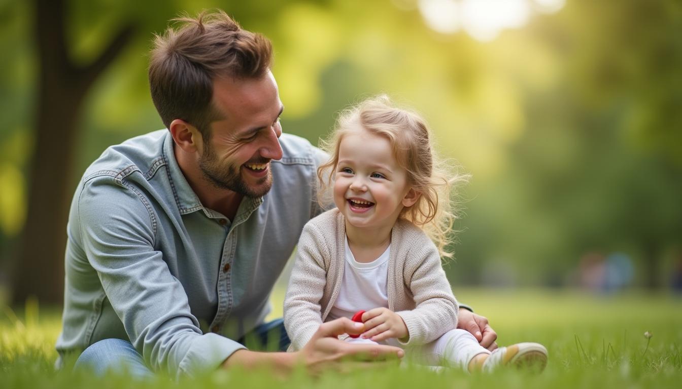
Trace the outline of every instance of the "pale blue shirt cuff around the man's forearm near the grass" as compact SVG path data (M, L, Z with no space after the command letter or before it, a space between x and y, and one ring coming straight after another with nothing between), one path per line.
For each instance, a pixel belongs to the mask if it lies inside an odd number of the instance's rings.
M194 339L187 354L180 361L177 378L196 377L198 373L216 370L233 352L246 349L241 343L218 334L207 333Z

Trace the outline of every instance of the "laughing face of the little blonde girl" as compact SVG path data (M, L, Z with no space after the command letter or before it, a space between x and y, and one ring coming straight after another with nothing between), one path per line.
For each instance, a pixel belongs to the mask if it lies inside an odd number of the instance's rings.
M341 140L333 196L346 223L366 229L392 228L402 208L416 201L389 140L364 129Z

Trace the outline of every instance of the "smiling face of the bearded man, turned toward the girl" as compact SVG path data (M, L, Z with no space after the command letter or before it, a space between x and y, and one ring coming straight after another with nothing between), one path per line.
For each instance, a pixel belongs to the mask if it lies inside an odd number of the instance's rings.
M198 164L216 187L248 197L265 195L272 186L271 159L282 158L277 84L270 72L262 78L217 78L213 105L224 119L211 123Z

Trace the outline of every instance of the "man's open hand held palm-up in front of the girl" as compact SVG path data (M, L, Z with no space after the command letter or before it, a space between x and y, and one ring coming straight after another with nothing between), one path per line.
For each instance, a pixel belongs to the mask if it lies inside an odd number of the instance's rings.
M355 364L346 362L353 367L376 367L372 362L397 361L404 356L400 347L351 344L338 339L338 335L344 333L359 334L363 328L362 323L353 322L347 317L326 322L318 328L306 346L297 352L299 360L312 373L317 373L325 368L336 367L342 361L355 361Z

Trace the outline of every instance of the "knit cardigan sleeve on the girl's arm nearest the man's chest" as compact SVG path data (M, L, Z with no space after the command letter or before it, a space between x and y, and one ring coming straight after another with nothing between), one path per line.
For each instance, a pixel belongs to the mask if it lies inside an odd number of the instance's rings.
M293 351L303 348L322 324L320 300L327 283L320 232L311 223L301 232L284 298L284 328Z

